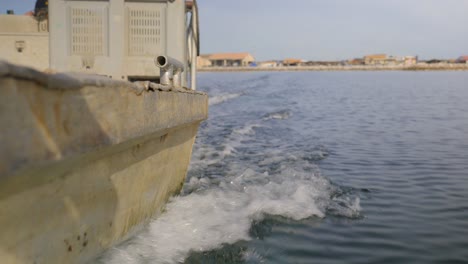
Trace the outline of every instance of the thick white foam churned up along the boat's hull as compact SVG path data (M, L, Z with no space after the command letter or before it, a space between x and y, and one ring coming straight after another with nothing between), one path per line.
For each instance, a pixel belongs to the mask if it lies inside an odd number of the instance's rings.
M190 179L166 212L126 245L110 250L106 263L175 263L190 251L206 251L249 240L253 221L267 214L296 220L323 217L333 187L320 175L285 169L277 175L247 169L216 185ZM205 188L200 186L205 185Z

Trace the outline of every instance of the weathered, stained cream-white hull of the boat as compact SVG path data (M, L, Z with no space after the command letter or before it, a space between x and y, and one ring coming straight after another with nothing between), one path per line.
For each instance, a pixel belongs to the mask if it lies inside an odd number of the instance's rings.
M206 117L203 93L0 64L2 263L84 263L138 230L181 189Z

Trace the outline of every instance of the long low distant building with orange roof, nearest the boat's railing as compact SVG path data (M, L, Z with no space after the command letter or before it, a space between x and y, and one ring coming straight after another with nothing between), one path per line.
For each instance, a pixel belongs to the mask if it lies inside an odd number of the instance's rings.
M214 53L201 55L199 58L198 66L201 67L245 67L255 61L255 58L248 52Z

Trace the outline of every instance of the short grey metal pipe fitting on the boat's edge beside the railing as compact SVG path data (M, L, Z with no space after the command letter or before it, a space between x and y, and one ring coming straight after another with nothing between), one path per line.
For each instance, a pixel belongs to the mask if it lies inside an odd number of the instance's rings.
M182 72L184 71L182 62L169 56L158 56L154 62L160 69L159 78L162 85L182 87Z

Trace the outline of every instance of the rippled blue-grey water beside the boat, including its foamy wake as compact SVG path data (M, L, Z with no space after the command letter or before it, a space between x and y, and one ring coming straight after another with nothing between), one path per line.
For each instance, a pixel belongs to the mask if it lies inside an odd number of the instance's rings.
M108 263L468 263L468 72L202 73L181 196Z

